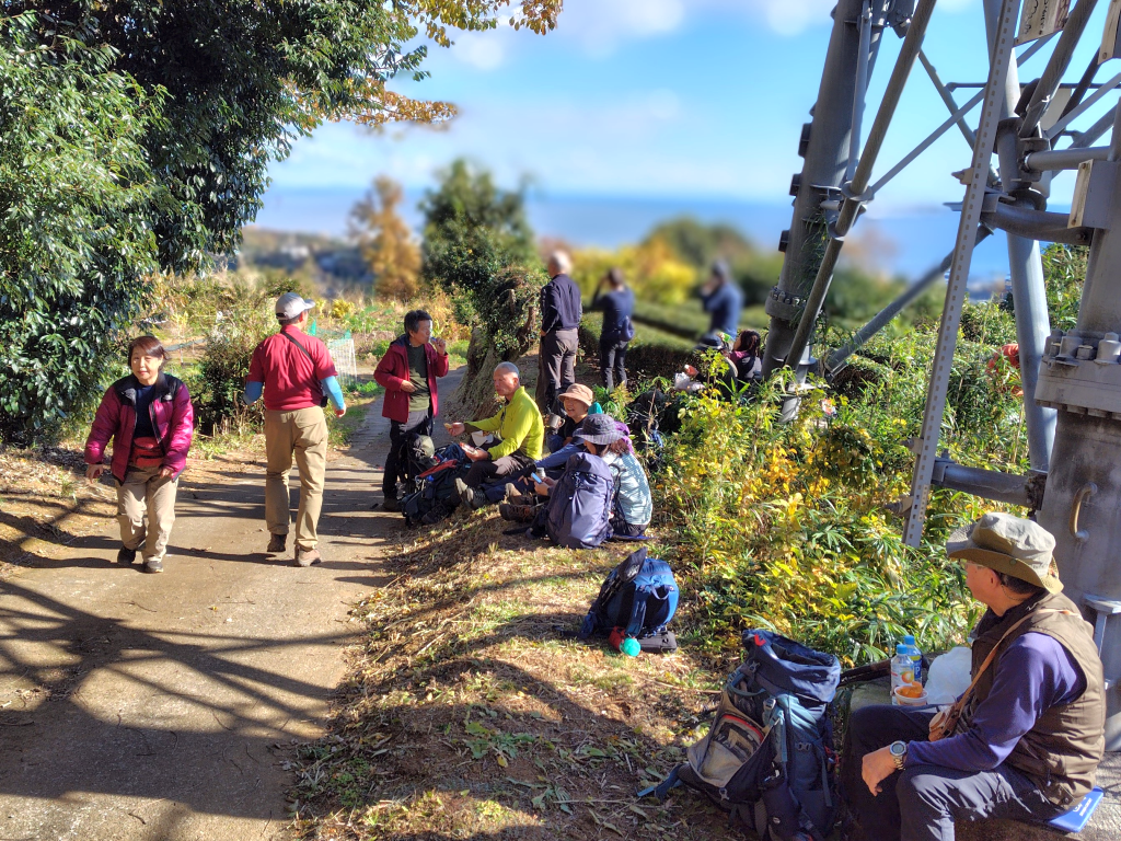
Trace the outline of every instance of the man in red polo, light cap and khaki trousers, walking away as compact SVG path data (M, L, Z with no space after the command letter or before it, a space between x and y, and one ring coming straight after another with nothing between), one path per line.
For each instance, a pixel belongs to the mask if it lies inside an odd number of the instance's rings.
M277 299L280 332L257 345L245 378L245 403L265 394L265 523L270 554L287 548L291 510L288 473L293 455L299 468L299 511L296 515L296 563L311 566L321 561L318 523L323 507L323 475L327 462L327 397L335 415L346 414L335 364L327 346L304 333L307 311L315 304L296 293Z

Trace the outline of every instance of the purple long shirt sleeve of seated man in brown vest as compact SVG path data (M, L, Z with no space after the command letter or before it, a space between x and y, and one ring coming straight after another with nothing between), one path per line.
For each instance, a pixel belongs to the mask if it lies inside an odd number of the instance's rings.
M998 660L992 690L978 705L970 729L941 741L908 743L906 765L992 770L1040 715L1071 703L1085 687L1085 676L1058 640L1046 634L1025 634Z

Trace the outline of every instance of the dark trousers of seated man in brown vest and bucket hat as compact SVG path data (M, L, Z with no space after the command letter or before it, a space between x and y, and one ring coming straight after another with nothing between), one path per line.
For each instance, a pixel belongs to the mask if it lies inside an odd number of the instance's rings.
M1063 810L1012 768L962 771L917 765L896 771L873 796L861 776L867 754L896 740L925 741L933 712L878 705L849 720L841 782L868 841L953 841L954 822L1001 817L1046 823Z

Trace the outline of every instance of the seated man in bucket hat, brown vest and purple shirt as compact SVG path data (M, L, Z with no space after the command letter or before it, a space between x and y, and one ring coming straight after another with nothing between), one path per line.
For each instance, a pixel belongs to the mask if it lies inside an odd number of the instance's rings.
M946 554L988 607L972 635L974 685L946 733L930 729L928 711L852 714L841 774L870 841L948 841L955 821L982 817L1043 823L1093 788L1105 747L1102 663L1060 592L1054 548L1043 527L1009 514L951 535Z

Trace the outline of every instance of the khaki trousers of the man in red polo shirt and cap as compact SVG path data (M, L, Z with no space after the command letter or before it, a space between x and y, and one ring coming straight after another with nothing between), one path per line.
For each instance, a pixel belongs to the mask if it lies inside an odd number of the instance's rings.
M295 412L265 413L265 524L269 534L286 535L291 525L288 473L293 455L299 468L299 511L296 514L296 545L314 549L319 542L319 510L323 508L323 474L327 465L327 419L312 406Z

